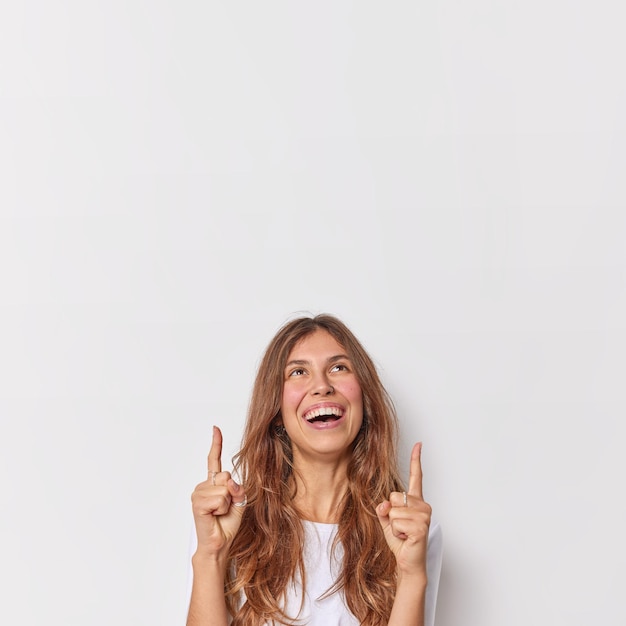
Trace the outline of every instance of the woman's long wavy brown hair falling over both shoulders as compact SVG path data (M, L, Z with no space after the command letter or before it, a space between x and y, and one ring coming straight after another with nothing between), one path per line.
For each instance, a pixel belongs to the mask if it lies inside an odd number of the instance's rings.
M248 505L229 554L226 598L233 626L290 623L293 616L282 611L287 587L298 574L305 580L304 529L292 504L291 444L281 428L280 404L291 350L320 329L346 350L363 391L363 426L353 443L335 540L344 550L342 571L329 592L343 592L348 608L364 626L389 620L396 563L375 507L391 491L403 490L396 413L361 343L343 322L324 314L286 323L270 342L257 372L241 450L234 458Z

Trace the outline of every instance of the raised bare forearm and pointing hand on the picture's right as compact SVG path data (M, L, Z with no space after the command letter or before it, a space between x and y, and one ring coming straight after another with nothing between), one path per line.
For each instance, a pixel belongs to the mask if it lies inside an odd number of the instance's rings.
M426 557L431 508L422 495L422 444L411 452L409 487L376 508L387 544L396 557L398 585L389 626L424 626Z

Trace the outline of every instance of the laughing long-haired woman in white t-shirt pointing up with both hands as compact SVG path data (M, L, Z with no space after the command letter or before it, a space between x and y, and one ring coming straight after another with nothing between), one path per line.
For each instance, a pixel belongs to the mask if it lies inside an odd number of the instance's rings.
M235 472L213 429L192 505L187 626L431 626L439 527L422 497L421 444L399 478L393 405L337 318L279 330L254 384ZM430 540L429 540L430 534Z

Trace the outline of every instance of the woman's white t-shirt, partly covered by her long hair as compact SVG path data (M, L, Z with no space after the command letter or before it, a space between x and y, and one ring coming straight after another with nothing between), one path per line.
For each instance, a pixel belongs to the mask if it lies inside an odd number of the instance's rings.
M330 589L339 573L341 572L341 560L343 550L341 545L332 555L332 545L337 534L337 524L321 524L319 522L303 521L304 548L303 556L306 567L306 587L302 589L301 581L295 580L287 589L287 601L285 613L290 616L298 616L294 624L302 626L359 626L359 621L348 610L344 603L342 592L333 593L324 597ZM192 533L191 554L196 549L196 535ZM435 520L431 521L428 535L427 574L428 586L426 588L425 626L434 626L435 608L437 603L437 591L439 589L439 576L443 556L443 543L441 526ZM193 571L190 568L189 596L191 596L191 584ZM302 611L300 603L304 591L304 604ZM270 626L267 624L266 626Z

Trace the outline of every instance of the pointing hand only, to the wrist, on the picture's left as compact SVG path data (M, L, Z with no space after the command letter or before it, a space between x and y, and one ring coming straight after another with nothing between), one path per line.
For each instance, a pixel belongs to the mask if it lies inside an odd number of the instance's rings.
M222 472L222 433L213 427L208 478L191 495L198 536L196 555L226 559L245 509L246 494L229 472ZM243 503L243 504L242 504Z

